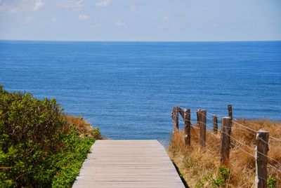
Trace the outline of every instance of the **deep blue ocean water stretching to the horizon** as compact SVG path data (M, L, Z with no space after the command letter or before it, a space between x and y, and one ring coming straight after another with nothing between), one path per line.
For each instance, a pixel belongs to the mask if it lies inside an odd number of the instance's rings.
M55 98L106 137L167 142L175 105L192 120L228 103L237 118L280 120L281 42L0 41L0 84Z

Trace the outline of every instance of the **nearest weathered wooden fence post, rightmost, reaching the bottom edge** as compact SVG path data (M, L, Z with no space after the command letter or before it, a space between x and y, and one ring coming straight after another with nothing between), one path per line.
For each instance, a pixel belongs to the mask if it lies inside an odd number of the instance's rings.
M259 130L256 135L256 188L267 187L268 131Z

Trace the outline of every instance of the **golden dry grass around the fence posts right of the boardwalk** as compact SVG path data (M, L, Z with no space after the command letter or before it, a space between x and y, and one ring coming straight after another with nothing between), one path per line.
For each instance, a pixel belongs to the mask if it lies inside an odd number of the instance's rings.
M254 187L256 132L253 130L263 129L270 132L268 164L281 169L281 123L269 120L238 120L236 122L233 123L231 132L233 139L231 139L230 149L230 178L226 180L225 187ZM216 187L214 181L218 180L219 176L220 133L214 135L211 131L207 132L205 149L200 149L198 136L199 128L192 128L191 146L185 147L183 131L175 133L168 147L169 156L176 163L190 187ZM279 140L274 140L272 137ZM275 177L277 187L281 187L280 171L268 166L268 177Z

